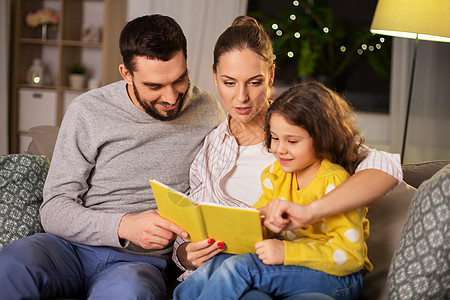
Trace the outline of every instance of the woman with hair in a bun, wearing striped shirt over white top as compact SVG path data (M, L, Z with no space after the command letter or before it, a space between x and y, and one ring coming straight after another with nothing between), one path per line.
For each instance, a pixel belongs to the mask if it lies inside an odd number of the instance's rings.
M205 139L191 166L191 196L198 202L252 206L262 194L260 175L275 161L264 150L264 116L270 104L275 65L271 41L253 18L237 17L217 40L213 76L228 112ZM398 155L370 150L354 175L326 196L305 206L311 224L366 205L402 180ZM339 201L337 201L339 200ZM177 239L174 261L186 270L181 279L225 249L221 241Z

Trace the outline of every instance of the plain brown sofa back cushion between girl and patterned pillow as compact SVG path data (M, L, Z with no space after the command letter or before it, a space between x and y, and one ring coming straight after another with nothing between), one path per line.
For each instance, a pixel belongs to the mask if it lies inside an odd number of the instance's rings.
M389 265L415 191L415 188L402 182L369 206L367 218L370 222L370 235L367 247L373 271L364 278L360 299L387 299L386 280Z

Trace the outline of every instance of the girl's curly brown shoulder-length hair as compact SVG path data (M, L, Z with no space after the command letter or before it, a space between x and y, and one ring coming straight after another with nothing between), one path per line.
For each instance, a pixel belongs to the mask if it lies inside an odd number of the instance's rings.
M308 131L316 155L343 166L353 174L367 156L364 136L355 125L354 112L336 92L316 81L304 82L282 93L265 119L266 147L270 150L270 118L279 114Z

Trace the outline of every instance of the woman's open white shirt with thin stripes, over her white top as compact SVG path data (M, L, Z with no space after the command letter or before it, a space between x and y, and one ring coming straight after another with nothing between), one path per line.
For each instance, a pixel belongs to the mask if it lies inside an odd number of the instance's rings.
M202 149L192 162L189 176L190 196L199 203L212 202L228 206L248 207L250 205L247 203L225 194L220 185L221 180L234 168L238 160L239 145L231 134L228 123L229 116L206 136ZM364 147L369 150L368 155L358 165L355 173L367 169L377 169L391 175L399 183L403 180L399 154ZM192 273L183 267L177 256L178 247L186 241L177 237L172 255L175 264L186 271L178 278L180 281Z

